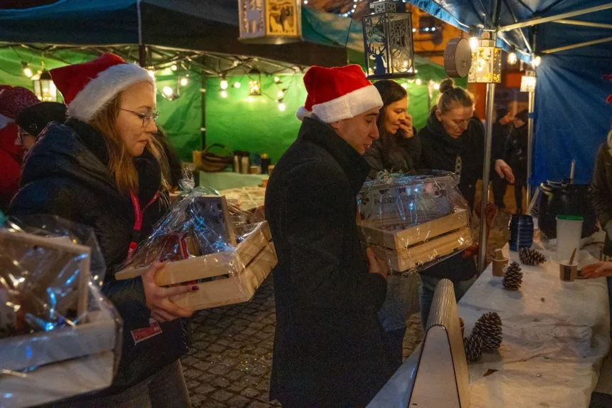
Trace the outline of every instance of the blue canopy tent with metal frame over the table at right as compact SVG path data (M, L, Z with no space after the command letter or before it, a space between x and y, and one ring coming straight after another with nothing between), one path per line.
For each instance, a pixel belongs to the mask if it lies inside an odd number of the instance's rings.
M603 75L612 73L612 1L408 2L465 31L497 31L497 46L516 50L523 61L541 57L529 120L533 130L530 184L533 187L547 179L567 178L572 159L576 160L576 182L590 182L597 148L606 139L612 118L612 110L606 106L612 82L603 80ZM487 90L487 123L491 123L495 85ZM490 127L487 145L490 147ZM485 169L482 197L487 197L488 179ZM481 268L485 262L482 224Z

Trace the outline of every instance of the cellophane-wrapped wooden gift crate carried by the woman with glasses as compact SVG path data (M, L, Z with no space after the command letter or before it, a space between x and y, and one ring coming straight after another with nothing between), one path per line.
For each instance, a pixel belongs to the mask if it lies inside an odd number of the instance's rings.
M194 285L170 298L190 310L250 300L277 263L268 222L243 211L216 190L181 180L181 194L154 233L142 241L117 279L139 276L164 261L158 286Z

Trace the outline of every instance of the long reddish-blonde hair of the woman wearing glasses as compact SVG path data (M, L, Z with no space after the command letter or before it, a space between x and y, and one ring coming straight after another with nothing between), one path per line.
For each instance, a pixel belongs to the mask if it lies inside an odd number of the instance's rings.
M108 105L100 110L89 122L102 134L108 152L108 171L110 177L115 179L117 189L121 193L138 192L138 172L134 166L134 158L127 152L125 143L117 131L117 116L122 93L118 93ZM145 147L159 162L162 168L162 188L169 189L169 165L164 148L159 141L152 137Z

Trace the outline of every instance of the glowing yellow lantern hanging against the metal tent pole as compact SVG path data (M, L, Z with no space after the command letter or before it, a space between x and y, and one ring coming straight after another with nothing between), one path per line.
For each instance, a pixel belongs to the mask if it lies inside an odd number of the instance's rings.
M502 82L502 48L497 48L495 33L485 31L472 51L472 68L468 75L470 83Z

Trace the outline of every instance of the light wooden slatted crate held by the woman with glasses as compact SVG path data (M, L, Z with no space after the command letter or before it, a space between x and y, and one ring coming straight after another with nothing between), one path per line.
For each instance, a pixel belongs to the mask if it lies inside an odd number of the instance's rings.
M250 226L253 228L253 226ZM155 276L158 286L217 278L198 283L199 291L177 295L171 300L184 308L201 310L250 300L255 290L277 263L268 221L256 224L235 251L221 251L181 261L169 261ZM117 279L140 276L148 267L127 268ZM230 272L234 271L235 276Z

